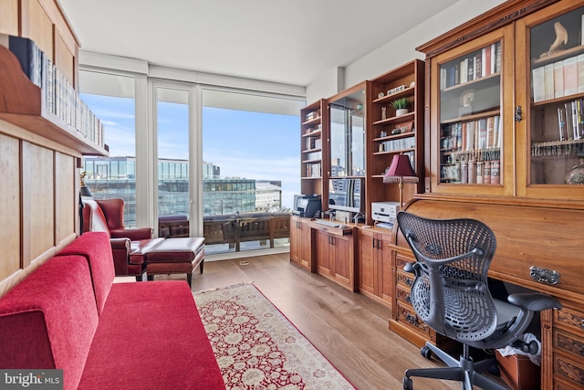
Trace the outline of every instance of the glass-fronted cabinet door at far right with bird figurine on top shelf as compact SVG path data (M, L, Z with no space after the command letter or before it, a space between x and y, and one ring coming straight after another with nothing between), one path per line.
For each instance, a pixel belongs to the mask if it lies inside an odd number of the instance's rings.
M565 1L516 23L518 195L584 198L583 14Z

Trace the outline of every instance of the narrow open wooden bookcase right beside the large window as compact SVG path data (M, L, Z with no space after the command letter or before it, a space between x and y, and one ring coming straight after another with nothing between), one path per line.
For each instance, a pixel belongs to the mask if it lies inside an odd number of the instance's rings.
M300 191L321 195L322 209L328 206L328 113L321 99L300 111Z

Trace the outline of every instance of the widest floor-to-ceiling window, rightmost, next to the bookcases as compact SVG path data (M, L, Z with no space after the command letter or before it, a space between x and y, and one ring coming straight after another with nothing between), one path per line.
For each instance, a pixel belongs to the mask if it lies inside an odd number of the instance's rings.
M241 91L203 89L203 216L289 213L299 183L303 102ZM225 218L228 220L228 218ZM262 229L261 225L256 225ZM254 228L254 227L245 227ZM260 232L261 235L261 232ZM254 239L210 246L209 253L270 248ZM228 241L228 240L227 240ZM287 246L283 238L276 246Z

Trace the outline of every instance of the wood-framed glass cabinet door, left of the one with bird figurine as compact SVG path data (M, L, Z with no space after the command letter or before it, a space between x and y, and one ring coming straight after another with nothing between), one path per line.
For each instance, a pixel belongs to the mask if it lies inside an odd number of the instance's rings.
M431 191L513 195L513 26L432 58Z

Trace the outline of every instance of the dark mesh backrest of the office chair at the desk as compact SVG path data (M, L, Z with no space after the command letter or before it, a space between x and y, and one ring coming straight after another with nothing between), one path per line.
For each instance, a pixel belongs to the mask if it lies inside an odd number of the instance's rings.
M422 321L463 343L495 332L495 303L487 287L496 248L491 229L474 219L432 220L404 212L398 223L418 260L411 300ZM433 282L442 291L433 291Z

